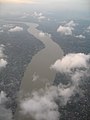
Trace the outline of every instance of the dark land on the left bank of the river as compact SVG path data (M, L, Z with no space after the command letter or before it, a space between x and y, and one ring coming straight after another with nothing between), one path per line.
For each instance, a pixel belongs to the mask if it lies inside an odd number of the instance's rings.
M2 22L1 25L8 24ZM0 91L4 91L9 98L6 107L15 113L17 107L17 95L24 72L32 57L44 45L27 32L28 27L24 24L15 24L24 28L22 32L0 33L0 44L5 45L4 54L7 56L7 66L0 71Z

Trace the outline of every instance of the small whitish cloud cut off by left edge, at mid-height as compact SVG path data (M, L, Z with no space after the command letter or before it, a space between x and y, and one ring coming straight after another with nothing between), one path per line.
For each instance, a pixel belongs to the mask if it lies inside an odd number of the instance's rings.
M3 53L4 47L3 44L0 45L0 68L6 67L7 65L7 61L5 60L6 55Z

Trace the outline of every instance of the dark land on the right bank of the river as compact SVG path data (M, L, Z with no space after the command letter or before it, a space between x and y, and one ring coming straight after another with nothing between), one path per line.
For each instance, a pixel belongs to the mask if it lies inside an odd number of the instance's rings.
M89 26L90 21L77 20L76 23L78 23L79 26L76 26L74 34L80 34L83 33L87 26ZM44 22L40 23L38 29L43 29L44 32L51 34L52 39L58 45L60 45L65 55L68 53L90 53L89 33L84 33L86 36L85 39L77 39L73 36L62 36L60 33L57 33L57 28L59 25L60 23L57 22L51 22L51 24ZM69 80L69 76L67 77L65 74L57 73L53 84L56 86L60 83L67 85ZM88 76L87 78L83 78L82 84L79 87L84 93L82 97L79 94L76 94L71 98L71 101L68 101L67 105L63 107L57 101L57 104L59 105L59 111L61 113L60 120L72 120L72 118L73 120L90 119L90 77Z

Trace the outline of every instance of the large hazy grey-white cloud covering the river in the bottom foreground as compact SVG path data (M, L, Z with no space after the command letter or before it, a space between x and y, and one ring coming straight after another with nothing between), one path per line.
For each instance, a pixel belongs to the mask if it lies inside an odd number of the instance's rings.
M64 106L76 92L76 86L62 84L34 92L32 97L21 101L21 114L35 120L59 120L60 113L55 101L58 100Z

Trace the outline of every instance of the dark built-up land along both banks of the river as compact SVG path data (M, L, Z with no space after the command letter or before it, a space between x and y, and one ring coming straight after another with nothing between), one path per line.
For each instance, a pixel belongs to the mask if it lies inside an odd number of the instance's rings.
M79 28L76 28L74 34L80 34L83 32L84 27L89 25L88 20L76 21L80 24ZM2 23L3 24L3 23ZM61 36L57 33L57 28L60 25L58 22L41 22L38 29L43 30L45 33L49 33L52 39L60 45L64 54L82 52L85 54L90 53L90 34L85 33L85 39L76 39L73 36ZM18 24L24 27L23 32L8 34L7 32L0 33L0 44L5 45L5 55L7 55L8 64L6 68L0 72L0 90L6 92L7 97L10 98L7 103L7 108L11 108L13 114L17 107L17 94L20 89L21 80L24 72L30 63L32 57L42 48L44 45L30 35L27 32L27 26L24 24ZM80 88L84 91L84 96L80 97L79 94L72 97L71 101L66 106L59 105L59 111L61 113L60 120L89 120L90 112L90 78L84 78L83 84ZM59 83L68 84L69 77L65 74L57 73L54 85ZM58 102L57 102L58 104Z

